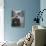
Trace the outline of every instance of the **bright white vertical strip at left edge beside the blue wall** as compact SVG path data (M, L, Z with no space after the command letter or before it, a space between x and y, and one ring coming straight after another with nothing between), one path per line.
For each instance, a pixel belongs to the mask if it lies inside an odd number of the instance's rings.
M0 42L4 41L4 0L0 0Z

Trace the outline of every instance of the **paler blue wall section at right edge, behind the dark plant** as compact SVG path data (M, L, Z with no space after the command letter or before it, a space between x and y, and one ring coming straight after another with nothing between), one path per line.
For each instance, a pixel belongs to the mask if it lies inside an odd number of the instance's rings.
M42 11L43 9L46 9L46 0L41 0L41 1L40 1L40 9L41 9L41 11ZM40 22L40 25L46 27L46 10L43 12L42 17L43 17L43 22L41 21L41 22Z

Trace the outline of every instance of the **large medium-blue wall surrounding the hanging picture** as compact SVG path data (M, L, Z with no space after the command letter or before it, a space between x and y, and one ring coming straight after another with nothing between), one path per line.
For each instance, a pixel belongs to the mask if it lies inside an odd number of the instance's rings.
M4 9L4 35L5 40L17 41L24 37L32 29L32 19L36 17L35 12L40 9L40 0L5 0ZM25 27L11 27L12 8L25 11Z

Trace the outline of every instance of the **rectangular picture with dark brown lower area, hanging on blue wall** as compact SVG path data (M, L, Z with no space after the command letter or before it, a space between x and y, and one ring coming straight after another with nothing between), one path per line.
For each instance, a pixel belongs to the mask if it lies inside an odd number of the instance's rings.
M12 27L24 27L24 11L23 10L12 10Z

